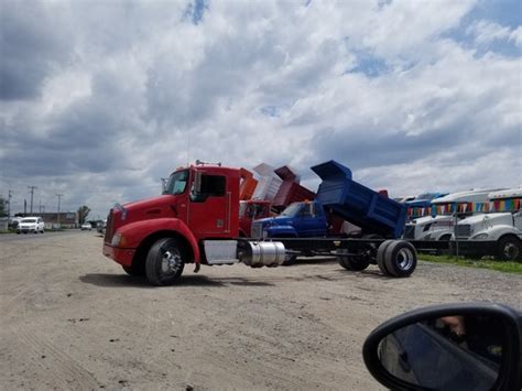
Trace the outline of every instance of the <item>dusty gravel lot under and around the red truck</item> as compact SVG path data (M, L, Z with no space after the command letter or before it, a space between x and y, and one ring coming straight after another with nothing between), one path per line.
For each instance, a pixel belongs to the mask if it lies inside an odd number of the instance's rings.
M425 262L402 280L328 260L187 267L180 285L151 287L106 259L95 232L18 238L0 241L2 390L380 390L361 346L387 318L522 305L519 275Z

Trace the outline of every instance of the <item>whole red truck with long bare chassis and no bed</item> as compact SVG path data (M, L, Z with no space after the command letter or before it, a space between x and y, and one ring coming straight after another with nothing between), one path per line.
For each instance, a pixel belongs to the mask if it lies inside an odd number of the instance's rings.
M239 237L239 169L200 163L176 170L163 195L117 205L110 210L104 254L131 275L146 275L154 285L173 284L187 263L195 264L195 272L200 264L283 264L292 252L286 253L281 240ZM339 261L346 257L369 257L376 263L381 257L398 265L404 262L402 254L409 252L413 258L407 262L413 262L413 267L396 276L410 275L416 264L415 250L402 240L393 240L393 246L391 242L324 239L287 246L318 246L318 253L331 250Z

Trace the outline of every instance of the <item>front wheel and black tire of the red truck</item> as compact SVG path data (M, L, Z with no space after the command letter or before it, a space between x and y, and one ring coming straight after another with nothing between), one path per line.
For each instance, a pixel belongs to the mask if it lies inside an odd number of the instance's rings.
M157 240L146 254L146 280L153 285L172 285L183 273L184 258L183 245L178 239Z

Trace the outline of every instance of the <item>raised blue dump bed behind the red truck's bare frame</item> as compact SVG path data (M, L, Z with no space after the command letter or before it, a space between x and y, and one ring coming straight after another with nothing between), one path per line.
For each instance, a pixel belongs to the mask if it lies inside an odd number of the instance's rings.
M367 233L401 237L406 220L406 206L351 180L348 167L329 161L312 167L323 182L315 199Z

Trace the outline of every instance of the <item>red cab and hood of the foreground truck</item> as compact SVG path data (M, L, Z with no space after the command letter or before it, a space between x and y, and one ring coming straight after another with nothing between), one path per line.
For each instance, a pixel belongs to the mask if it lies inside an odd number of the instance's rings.
M183 264L206 263L202 240L239 236L239 170L220 165L176 170L162 196L117 205L110 210L104 254L129 274L146 273L149 280L157 280L152 281L156 284L168 282L161 280L165 274L162 270L146 269L149 263L154 264L146 261L154 253L167 258L155 262L156 267L167 272L172 269L174 274L180 258ZM165 252L165 248L170 250Z

